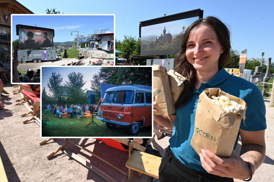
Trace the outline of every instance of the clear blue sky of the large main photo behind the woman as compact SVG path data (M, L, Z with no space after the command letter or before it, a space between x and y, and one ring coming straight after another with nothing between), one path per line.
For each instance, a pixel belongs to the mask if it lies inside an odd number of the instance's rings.
M231 43L234 50L241 52L247 49L247 58L274 59L274 1L269 0L196 0L196 1L53 1L47 0L46 5L37 5L37 1L18 0L36 14L46 13L46 9L56 8L65 14L115 14L115 36L123 40L126 36L139 36L139 22L172 15L194 9L203 10L203 17L216 16L229 25ZM56 22L56 21L54 21ZM91 21L82 21L92 24ZM72 25L67 22L67 25ZM99 29L99 28L98 28ZM92 28L93 31L93 28ZM70 36L70 32L69 32ZM74 36L74 34L73 34ZM75 37L75 36L74 36ZM56 36L54 37L54 41ZM273 61L272 61L273 62Z

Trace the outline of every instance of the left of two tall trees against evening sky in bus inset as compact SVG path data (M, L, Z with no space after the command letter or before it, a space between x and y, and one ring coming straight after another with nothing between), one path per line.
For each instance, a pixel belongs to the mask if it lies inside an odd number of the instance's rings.
M54 98L55 103L62 103L62 94L63 89L61 88L61 84L63 82L62 75L55 71L51 73L51 77L47 82L47 86L50 89L50 96Z

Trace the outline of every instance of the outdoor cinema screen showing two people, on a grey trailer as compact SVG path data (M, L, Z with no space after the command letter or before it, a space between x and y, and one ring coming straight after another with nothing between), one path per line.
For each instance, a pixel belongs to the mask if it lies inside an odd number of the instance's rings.
M17 24L16 35L19 35L19 49L53 46L54 29Z

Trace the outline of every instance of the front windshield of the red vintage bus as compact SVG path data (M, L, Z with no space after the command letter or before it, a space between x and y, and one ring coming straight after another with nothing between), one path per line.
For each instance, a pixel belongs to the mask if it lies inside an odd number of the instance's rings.
M113 102L121 104L131 104L133 103L134 92L133 91L116 91L116 92L106 92L103 102Z

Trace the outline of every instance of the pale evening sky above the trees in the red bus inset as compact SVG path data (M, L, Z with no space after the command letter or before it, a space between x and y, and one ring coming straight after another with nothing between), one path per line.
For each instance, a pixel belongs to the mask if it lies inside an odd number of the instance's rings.
M45 87L47 94L49 93L47 83L53 72L60 73L63 76L63 84L65 84L65 81L69 80L67 75L69 73L75 72L75 73L82 73L84 75L83 80L86 81L86 84L84 85L83 89L91 90L90 80L93 79L93 75L95 73L98 73L100 71L100 68L101 66L89 66L89 67L84 67L84 66L46 67L44 66L42 67L42 70L41 70L41 73L42 73L41 88L43 89Z

